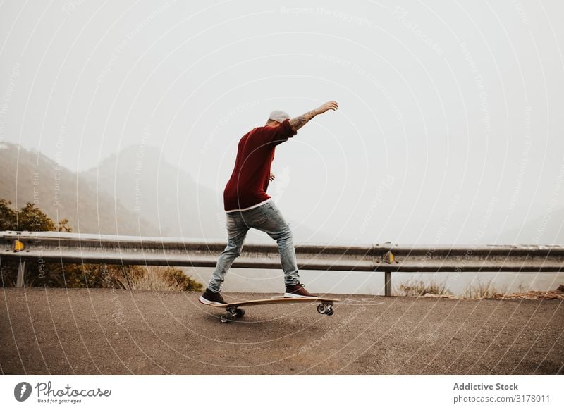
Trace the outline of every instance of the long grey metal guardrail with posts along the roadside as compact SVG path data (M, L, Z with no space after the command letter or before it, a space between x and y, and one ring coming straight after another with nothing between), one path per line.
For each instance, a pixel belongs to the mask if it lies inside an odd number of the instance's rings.
M2 261L18 261L17 286L26 263L106 263L214 267L225 242L66 232L0 232ZM296 244L298 268L384 272L386 296L392 272L562 272L562 245L320 245ZM276 244L245 243L233 268L279 269Z

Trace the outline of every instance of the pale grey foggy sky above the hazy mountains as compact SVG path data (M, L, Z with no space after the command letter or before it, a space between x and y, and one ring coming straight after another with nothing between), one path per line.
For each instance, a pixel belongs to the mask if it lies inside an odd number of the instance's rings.
M155 146L216 213L245 132L333 99L276 149L295 224L481 243L562 209L563 4L399 4L4 1L0 142L71 170Z

